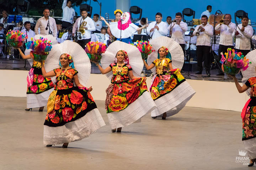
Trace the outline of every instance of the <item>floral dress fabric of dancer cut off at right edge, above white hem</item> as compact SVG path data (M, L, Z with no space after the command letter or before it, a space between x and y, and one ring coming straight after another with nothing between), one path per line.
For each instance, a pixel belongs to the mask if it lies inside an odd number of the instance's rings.
M242 120L242 140L256 137L256 77L248 79L245 85L251 88L251 98Z

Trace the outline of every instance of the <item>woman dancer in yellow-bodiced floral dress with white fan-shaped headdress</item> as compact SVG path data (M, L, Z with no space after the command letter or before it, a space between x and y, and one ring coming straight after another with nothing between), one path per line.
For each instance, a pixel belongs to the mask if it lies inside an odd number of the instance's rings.
M159 117L166 119L166 117L177 114L185 107L186 103L196 92L180 73L179 67L182 67L183 62L180 62L181 65L174 69L171 59L173 58L177 61L177 58L175 58L176 55L171 55L169 50L162 46L162 44L167 44L170 49L178 50L177 53L182 53L179 44L167 37L152 40L151 44L155 52L150 55L153 57L156 55L156 59L150 66L144 60L146 69L149 70L156 67L150 92L157 108L151 112L151 117L154 119ZM182 55L178 54L178 57L180 56Z

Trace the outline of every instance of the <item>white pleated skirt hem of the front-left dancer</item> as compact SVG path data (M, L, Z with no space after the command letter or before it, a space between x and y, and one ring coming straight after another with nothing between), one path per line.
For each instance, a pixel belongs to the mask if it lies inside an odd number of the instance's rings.
M50 127L44 125L43 144L58 145L79 141L94 134L105 125L100 112L95 108L86 113L85 116L63 126Z

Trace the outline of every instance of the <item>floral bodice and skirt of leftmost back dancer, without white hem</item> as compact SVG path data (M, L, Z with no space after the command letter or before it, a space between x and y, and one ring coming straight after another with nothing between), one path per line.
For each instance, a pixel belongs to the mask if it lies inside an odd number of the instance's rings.
M27 94L40 94L44 91L52 89L54 84L51 78L44 78L41 70L41 63L34 61L32 68L34 73L33 84L30 87L27 87Z

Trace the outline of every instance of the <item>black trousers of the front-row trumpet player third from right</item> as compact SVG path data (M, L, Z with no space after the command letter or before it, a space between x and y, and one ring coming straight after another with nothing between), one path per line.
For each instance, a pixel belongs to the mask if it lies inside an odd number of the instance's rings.
M203 71L203 58L204 66L206 67L206 73L210 73L210 46L197 45L196 50L197 55L197 70L199 72Z

